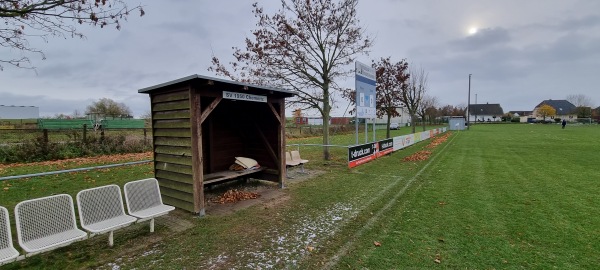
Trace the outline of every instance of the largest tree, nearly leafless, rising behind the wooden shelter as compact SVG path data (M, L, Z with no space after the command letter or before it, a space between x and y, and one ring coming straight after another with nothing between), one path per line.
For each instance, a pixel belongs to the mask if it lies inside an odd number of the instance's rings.
M274 15L254 3L258 19L254 39L246 38L245 50L234 47L231 71L217 57L211 71L232 80L271 84L293 89L291 104L316 109L323 117L323 145L329 144L329 119L336 80L352 73L348 65L366 53L371 39L359 26L358 0L281 0ZM323 147L329 159L329 148Z

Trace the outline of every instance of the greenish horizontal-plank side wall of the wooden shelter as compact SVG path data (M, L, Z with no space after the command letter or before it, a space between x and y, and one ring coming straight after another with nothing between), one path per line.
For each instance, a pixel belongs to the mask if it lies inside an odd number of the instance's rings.
M152 94L154 169L163 202L194 211L189 89Z

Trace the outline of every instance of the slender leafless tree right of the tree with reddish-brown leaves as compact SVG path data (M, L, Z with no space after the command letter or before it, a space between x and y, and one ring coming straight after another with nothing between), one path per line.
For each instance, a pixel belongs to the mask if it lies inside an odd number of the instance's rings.
M402 92L401 101L406 106L410 115L410 125L412 132L416 132L415 122L419 109L422 106L423 97L427 91L427 73L423 68L410 68L410 78L406 91Z

